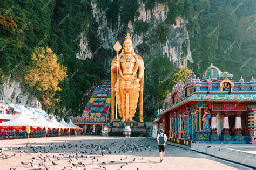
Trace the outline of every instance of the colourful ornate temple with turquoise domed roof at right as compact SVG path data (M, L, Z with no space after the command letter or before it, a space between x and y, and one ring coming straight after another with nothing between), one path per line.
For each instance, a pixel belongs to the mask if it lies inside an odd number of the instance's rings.
M167 94L154 122L174 143L256 144L256 81L235 82L211 65L201 80L194 73Z

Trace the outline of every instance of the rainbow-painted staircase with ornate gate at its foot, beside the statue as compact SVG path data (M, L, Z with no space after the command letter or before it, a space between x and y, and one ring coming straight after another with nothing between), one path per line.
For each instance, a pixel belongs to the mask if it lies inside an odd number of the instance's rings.
M110 80L102 80L93 91L82 116L70 117L75 125L84 129L84 133L96 133L99 126L103 127L107 124L111 103L110 86Z

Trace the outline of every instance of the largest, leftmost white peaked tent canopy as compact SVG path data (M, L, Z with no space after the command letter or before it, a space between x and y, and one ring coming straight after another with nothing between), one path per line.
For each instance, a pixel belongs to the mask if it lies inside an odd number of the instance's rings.
M25 111L22 111L21 114L11 119L10 121L0 123L1 127L21 127L21 126L32 126L44 128L44 125L33 121L31 118L26 115Z

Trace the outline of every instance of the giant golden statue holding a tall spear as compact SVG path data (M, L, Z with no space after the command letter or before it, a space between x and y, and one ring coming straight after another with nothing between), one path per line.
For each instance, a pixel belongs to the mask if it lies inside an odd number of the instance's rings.
M130 34L125 37L120 55L118 52L121 46L117 43L118 49L114 47L117 55L111 63L111 121L114 118L115 94L122 121L133 121L139 99L139 121L143 122L144 62L141 56L134 53Z

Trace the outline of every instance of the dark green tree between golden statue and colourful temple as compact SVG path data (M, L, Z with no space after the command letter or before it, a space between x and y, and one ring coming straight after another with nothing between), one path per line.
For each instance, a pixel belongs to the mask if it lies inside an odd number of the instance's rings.
M171 77L173 65L167 56L150 56L144 60L144 112L152 117L153 112L160 107L168 90L173 86Z

